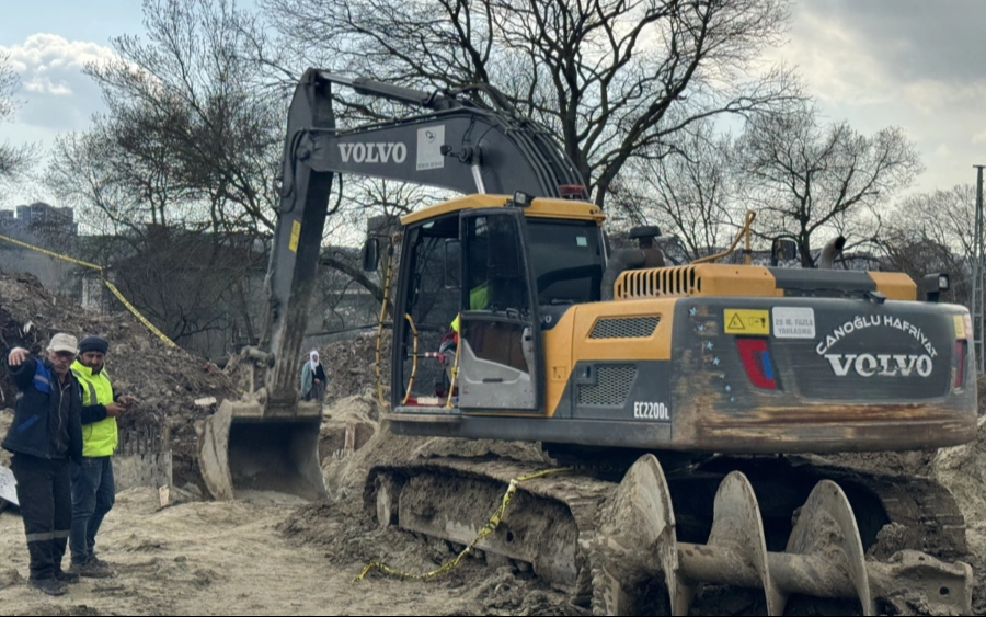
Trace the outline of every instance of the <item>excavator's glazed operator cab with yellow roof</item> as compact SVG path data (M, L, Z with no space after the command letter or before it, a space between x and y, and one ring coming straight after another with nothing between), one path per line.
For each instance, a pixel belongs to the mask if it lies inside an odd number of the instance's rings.
M541 332L572 307L599 299L601 216L593 210L566 220L546 216L558 212L557 202L539 201L532 209L515 203L472 195L435 206L454 213L417 225L416 215L405 219L403 284L397 293L397 312L404 319L394 320L400 362L393 363L393 407L542 414ZM444 274L436 276L439 260ZM443 334L450 324L459 343L457 388L448 397L447 364L426 358L447 340Z

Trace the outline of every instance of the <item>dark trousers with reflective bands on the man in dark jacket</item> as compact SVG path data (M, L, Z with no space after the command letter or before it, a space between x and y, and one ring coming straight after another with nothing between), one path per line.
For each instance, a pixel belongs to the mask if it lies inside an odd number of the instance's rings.
M31 578L50 579L61 570L72 525L69 459L15 454L10 469L18 481L18 501L21 502L21 518L31 555Z

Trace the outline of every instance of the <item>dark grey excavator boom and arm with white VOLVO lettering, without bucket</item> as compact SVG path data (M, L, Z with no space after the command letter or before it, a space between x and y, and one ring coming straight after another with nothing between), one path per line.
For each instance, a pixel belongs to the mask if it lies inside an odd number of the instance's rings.
M419 115L337 129L332 84L420 107ZM462 95L482 89L494 106ZM427 93L308 69L288 112L280 210L268 267L268 405L293 409L298 356L333 174L438 186L459 193L585 198L584 181L549 132L520 117L489 85Z

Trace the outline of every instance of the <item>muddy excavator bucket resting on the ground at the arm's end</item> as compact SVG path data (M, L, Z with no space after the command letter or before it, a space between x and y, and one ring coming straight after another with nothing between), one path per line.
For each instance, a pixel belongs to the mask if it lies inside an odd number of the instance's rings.
M272 413L256 401L223 401L205 423L198 460L217 500L275 492L316 501L326 496L319 465L322 410L299 402Z

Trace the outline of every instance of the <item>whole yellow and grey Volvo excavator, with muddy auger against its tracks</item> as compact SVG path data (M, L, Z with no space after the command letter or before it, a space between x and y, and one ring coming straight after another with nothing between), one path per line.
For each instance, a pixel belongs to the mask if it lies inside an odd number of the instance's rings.
M333 85L414 111L340 129ZM686 615L710 584L757 590L769 615L795 596L865 615L971 610L948 490L832 456L975 438L973 331L964 307L938 301L947 277L918 288L902 273L721 255L661 266L653 247L610 250L571 158L489 85L423 92L309 69L287 124L270 328L246 353L264 387L225 401L204 434L214 495L324 495L321 410L298 401L295 361L332 180L392 179L462 196L364 249L365 266L387 272L390 430L539 442L571 466L515 484L478 548L596 614L638 610L656 587ZM484 504L536 469L380 465L365 498L381 526L467 545Z

